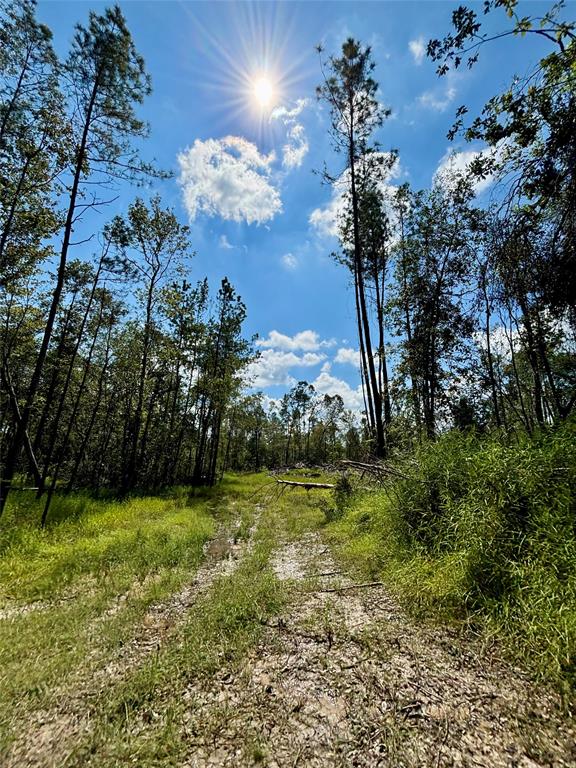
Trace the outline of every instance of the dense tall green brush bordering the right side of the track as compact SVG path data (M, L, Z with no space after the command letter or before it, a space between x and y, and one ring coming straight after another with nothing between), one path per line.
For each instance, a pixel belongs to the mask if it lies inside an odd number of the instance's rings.
M329 531L408 605L500 637L576 688L576 427L505 445L450 433L382 490L344 495Z

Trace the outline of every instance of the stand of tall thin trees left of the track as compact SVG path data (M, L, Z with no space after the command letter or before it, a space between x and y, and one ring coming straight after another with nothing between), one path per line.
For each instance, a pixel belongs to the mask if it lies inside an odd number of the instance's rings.
M150 82L125 19L90 13L61 61L34 0L0 13L0 511L22 482L44 521L57 486L212 484L246 312L227 279L190 279L158 196L102 227L129 183L166 176L140 156Z

